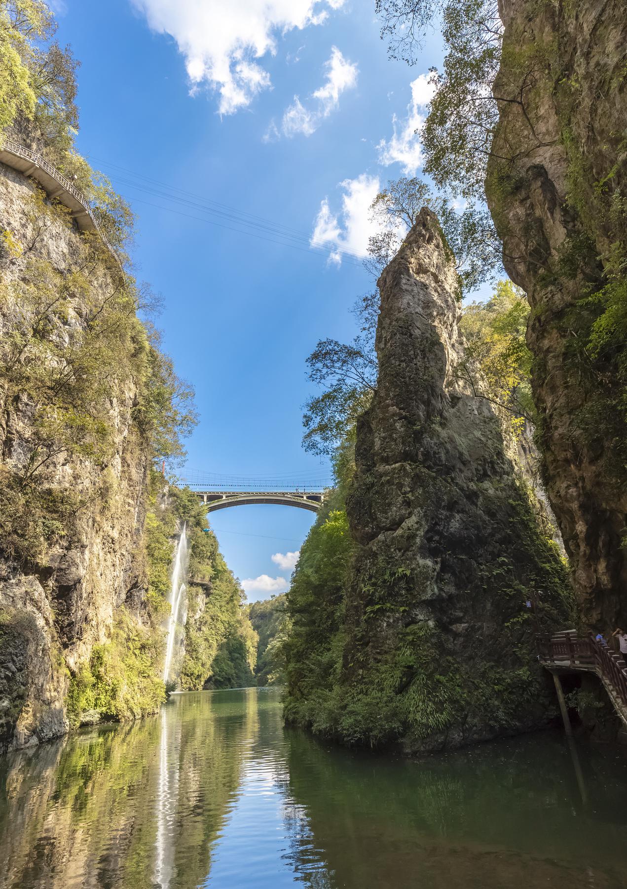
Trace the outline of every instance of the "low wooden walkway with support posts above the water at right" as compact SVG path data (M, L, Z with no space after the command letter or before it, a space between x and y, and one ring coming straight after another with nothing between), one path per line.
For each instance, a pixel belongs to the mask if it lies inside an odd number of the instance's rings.
M594 673L603 684L609 700L627 728L627 669L623 658L594 637L577 636L575 631L557 633L538 640L542 666L555 680L560 709L567 725L566 704L561 691L560 676L567 673Z

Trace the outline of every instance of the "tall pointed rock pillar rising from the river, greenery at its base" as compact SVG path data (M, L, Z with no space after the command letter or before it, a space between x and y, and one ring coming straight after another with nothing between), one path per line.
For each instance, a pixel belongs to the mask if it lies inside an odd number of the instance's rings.
M534 634L564 619L566 578L507 424L456 378L456 272L430 211L378 284L377 393L346 504L360 546L345 682L385 689L412 750L524 731L552 713Z

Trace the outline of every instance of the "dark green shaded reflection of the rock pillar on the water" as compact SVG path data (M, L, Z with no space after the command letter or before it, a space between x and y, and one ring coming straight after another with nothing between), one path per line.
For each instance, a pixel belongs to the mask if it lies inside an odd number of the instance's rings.
M587 750L583 807L567 747L528 738L420 762L327 749L290 733L295 869L315 848L360 889L620 889L627 763ZM616 788L615 798L607 789ZM627 816L625 816L627 821Z

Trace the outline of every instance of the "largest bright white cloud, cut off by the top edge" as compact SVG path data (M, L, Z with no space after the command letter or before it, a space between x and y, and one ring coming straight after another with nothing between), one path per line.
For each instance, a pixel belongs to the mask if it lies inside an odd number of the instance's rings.
M191 92L219 92L220 114L245 108L270 75L258 64L277 36L320 25L344 0L131 0L150 28L169 34L185 57Z

